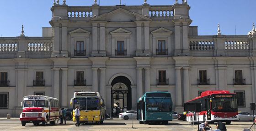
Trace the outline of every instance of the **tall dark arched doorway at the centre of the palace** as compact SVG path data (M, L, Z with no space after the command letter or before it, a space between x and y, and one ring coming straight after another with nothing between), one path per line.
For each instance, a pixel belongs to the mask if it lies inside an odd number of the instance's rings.
M132 89L131 81L125 76L117 76L111 83L111 106L113 109L115 106L123 108L127 107L127 110L132 109Z

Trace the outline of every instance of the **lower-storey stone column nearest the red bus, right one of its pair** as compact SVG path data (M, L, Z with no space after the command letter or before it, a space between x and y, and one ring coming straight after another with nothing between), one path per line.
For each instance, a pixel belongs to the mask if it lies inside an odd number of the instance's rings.
M184 103L186 103L187 101L189 101L189 74L188 74L188 69L189 67L183 67L183 98L184 98Z

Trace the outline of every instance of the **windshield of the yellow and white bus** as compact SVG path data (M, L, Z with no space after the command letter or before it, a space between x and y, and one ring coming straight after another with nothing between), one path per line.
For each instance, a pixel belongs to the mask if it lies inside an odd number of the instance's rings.
M82 110L100 110L99 98L75 98L74 107ZM86 104L87 102L87 104ZM87 106L86 106L87 105Z

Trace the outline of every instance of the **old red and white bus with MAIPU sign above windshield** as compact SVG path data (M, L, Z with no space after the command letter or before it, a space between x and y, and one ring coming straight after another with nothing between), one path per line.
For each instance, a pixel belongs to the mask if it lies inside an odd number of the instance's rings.
M48 122L54 125L59 119L59 100L48 96L25 96L21 102L23 109L20 115L22 126L33 122L45 126Z

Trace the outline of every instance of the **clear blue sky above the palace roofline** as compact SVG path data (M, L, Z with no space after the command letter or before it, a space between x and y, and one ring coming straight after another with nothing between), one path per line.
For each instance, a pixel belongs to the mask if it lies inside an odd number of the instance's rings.
M60 0L60 3L63 0ZM97 0L99 2L99 0ZM223 35L247 35L256 24L256 0L187 0L191 25L199 35L216 35L220 23ZM92 5L94 0L66 0L69 6ZM122 4L142 5L144 0L122 0ZM148 0L150 5L173 5L175 0ZM181 3L181 0L179 0ZM119 0L100 0L100 5L118 5ZM0 36L16 37L24 25L26 36L42 36L42 27L51 27L53 0L0 0Z

